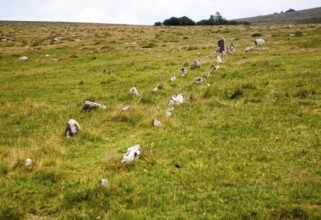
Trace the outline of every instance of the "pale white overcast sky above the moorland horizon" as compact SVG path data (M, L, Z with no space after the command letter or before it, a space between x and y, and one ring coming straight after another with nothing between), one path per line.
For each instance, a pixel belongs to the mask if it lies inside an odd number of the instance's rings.
M0 20L153 25L170 17L194 21L321 7L321 0L0 0Z

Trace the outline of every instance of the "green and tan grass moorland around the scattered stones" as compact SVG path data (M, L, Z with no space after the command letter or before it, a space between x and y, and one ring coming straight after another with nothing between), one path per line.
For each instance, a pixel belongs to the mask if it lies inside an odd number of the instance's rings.
M0 219L320 219L320 36L317 24L1 22ZM236 52L196 85L221 37ZM66 138L71 118L82 130ZM135 144L141 158L121 164Z

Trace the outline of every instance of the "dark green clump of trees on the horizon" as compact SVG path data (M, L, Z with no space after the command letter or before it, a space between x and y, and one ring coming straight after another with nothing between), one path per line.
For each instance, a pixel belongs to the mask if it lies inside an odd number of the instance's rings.
M209 19L203 19L198 22L193 21L189 17L183 16L180 18L171 17L163 22L155 22L155 26L191 26L191 25L238 25L246 24L249 25L249 22L237 22L237 21L228 21L226 20L221 13L216 12L215 15L211 15Z

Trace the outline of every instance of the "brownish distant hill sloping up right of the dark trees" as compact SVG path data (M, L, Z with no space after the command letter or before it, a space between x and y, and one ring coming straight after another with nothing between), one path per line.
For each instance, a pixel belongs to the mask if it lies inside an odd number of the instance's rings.
M247 21L251 24L321 23L321 7L301 11L289 11L270 15L234 19L234 21Z

